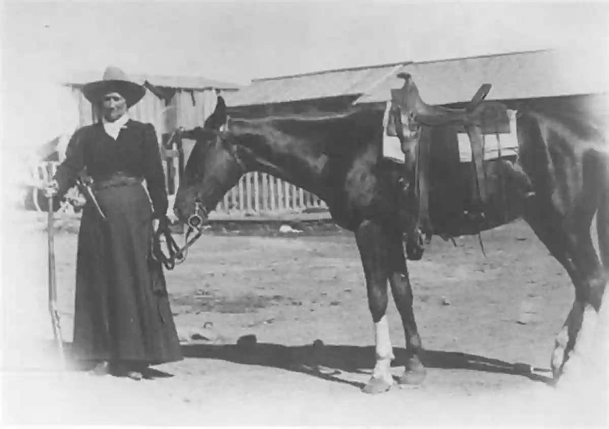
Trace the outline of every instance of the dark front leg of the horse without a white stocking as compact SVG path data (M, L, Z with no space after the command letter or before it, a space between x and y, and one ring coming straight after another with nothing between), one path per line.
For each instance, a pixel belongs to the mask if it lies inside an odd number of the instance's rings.
M410 286L400 232L391 233L387 237L387 241L389 243L389 285L395 305L400 312L404 335L406 336L406 371L400 377L400 384L418 385L423 382L426 370L420 361L421 338L412 311L412 287Z

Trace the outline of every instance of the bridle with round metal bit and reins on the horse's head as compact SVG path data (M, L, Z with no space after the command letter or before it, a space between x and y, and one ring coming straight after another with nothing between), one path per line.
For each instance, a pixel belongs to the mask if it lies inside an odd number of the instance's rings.
M245 172L247 171L247 168L245 167L245 164L237 154L236 148L228 141L228 131L226 130L226 128L227 126L223 126L222 129L220 129L219 131L214 130L214 134L216 134L216 143L218 141L217 139L219 139L220 144L222 144L222 146L227 149L228 153L232 155L234 160L239 165L239 168L241 168L242 171ZM169 140L167 140L167 144L171 144L173 138L178 135L178 133L181 134L182 131L183 129L181 129L181 127L175 130ZM161 228L161 226L159 226L159 228L154 234L153 239L153 257L161 264L163 264L163 266L168 270L174 269L177 264L180 264L185 261L186 255L188 255L188 248L191 247L192 244L194 244L195 241L197 241L197 239L199 239L200 236L203 235L203 225L205 224L205 219L208 219L208 216L209 210L205 207L200 197L197 196L197 199L195 199L194 213L188 216L188 219L186 219L186 225L188 225L188 231L186 232L186 244L182 247L178 246L178 244L175 242L174 237L171 234L171 230L169 230L169 227ZM192 236L192 238L189 238L189 235L193 231L196 231L195 235ZM165 244L169 252L168 257L163 253L163 250L161 249L161 235L165 238Z

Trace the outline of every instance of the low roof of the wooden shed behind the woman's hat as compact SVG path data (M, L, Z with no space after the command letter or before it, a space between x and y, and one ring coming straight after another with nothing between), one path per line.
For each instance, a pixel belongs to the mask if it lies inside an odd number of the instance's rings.
M234 91L241 88L241 85L237 85L236 83L221 82L220 80L197 76L162 76L153 74L128 74L128 76L138 83L144 83L144 81L148 80L148 82L157 87L178 88L183 90L205 90L214 88ZM85 83L99 80L101 77L102 73L99 71L84 71L70 76L69 79L66 80L65 85L80 87L85 85Z

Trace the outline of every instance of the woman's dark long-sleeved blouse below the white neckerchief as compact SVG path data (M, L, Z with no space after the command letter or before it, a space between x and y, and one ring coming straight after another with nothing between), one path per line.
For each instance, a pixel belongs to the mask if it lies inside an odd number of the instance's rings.
M101 123L78 129L68 143L66 159L55 174L58 196L74 186L84 168L94 182L108 179L117 172L146 179L155 217L167 212L165 175L152 124L129 119L116 140L105 132Z

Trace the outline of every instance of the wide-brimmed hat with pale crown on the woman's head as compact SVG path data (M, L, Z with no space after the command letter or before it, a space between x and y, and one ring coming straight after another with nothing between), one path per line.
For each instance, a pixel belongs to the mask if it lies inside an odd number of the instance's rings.
M124 71L114 66L105 69L102 80L87 83L82 87L85 98L93 104L99 103L104 94L112 92L121 94L127 100L127 106L131 107L144 97L146 88L133 82Z

